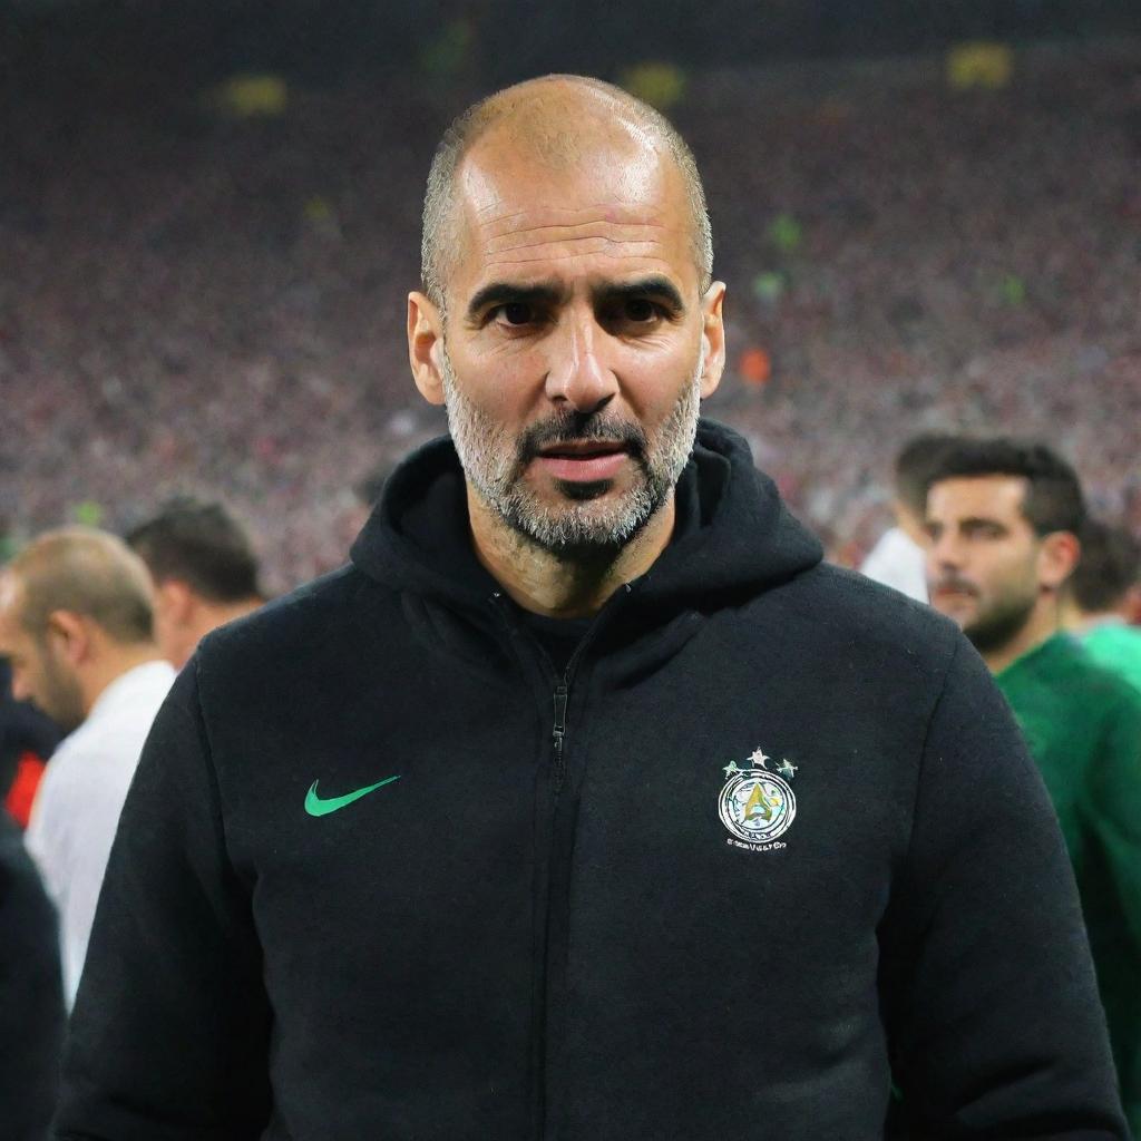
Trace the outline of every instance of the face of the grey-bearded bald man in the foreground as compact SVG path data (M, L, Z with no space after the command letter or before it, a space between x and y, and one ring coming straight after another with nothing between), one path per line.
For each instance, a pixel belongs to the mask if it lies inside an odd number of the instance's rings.
M672 165L613 149L555 178L469 159L436 364L469 483L556 552L624 544L667 500L721 370ZM617 157L617 161L616 161Z

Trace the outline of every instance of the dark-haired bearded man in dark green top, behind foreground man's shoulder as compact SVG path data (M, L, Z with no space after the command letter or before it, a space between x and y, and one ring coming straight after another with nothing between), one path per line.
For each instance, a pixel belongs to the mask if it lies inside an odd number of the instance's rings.
M1141 695L1061 629L1085 509L1041 444L963 442L928 491L931 602L995 673L1061 822L1126 1112L1141 1128Z

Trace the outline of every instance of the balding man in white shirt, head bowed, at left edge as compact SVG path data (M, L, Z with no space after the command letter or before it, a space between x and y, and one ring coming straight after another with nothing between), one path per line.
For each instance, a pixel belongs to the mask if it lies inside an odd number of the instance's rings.
M11 663L13 693L68 733L25 834L59 912L68 1006L127 788L175 679L153 622L146 566L105 532L49 532L0 575L0 654Z

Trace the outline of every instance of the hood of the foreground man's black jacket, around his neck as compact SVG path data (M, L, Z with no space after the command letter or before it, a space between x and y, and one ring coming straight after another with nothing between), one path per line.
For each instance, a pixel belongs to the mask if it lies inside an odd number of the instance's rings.
M670 545L638 582L642 606L711 606L755 594L818 564L819 541L758 471L745 440L709 420L678 482ZM364 574L400 591L469 607L499 586L471 545L463 471L450 437L391 475L353 544Z

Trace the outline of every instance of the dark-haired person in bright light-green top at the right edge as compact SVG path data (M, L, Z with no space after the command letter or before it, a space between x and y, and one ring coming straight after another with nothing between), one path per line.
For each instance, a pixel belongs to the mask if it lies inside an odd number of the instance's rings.
M1141 630L1126 620L1130 591L1141 578L1141 543L1125 529L1089 519L1082 559L1070 575L1062 624L1100 665L1141 689Z

